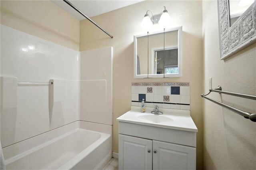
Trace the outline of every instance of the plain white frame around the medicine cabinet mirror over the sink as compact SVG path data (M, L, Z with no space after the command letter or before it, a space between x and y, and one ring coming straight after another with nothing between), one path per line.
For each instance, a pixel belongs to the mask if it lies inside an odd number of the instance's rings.
M178 68L179 68L179 73L178 74L141 74L137 75L137 38L144 37L144 36L150 36L154 34L161 34L164 33L163 30L158 31L158 32L152 32L148 34L140 34L137 36L134 36L134 78L163 78L163 77L182 77L182 26L175 27L175 28L170 28L170 29L165 29L166 32L172 32L172 31L178 31ZM150 49L149 49L150 50ZM151 57L151 56L148 56Z

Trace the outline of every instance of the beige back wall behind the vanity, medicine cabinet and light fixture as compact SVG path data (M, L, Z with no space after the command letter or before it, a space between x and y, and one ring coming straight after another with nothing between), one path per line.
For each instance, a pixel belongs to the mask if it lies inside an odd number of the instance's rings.
M133 78L133 36L142 34L140 22L147 10L159 14L163 6L172 26L182 26L183 76L180 78ZM80 22L80 51L113 46L113 151L118 152L116 118L130 110L132 82L190 82L191 116L198 128L197 168L202 168L202 2L144 1L92 19L114 36L109 38L87 20ZM196 61L196 62L195 62ZM191 64L193 63L193 64Z

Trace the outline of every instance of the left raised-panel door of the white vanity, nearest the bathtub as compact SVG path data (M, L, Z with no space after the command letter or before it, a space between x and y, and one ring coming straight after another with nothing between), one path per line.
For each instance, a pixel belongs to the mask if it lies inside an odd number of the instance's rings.
M119 170L152 170L152 140L119 134Z

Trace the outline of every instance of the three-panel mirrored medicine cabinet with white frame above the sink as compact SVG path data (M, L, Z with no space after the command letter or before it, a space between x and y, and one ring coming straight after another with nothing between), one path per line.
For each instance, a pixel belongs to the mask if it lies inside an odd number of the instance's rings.
M134 36L134 78L182 76L182 27Z

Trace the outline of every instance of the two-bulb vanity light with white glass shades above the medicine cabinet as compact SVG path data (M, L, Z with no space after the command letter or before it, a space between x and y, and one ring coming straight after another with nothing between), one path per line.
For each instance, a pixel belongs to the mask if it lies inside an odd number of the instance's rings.
M149 18L148 12L151 13L152 18ZM160 20L158 21L160 17ZM142 28L144 28L145 30L150 30L153 26L153 24L159 24L161 28L168 28L170 27L171 24L171 18L170 15L168 14L168 11L166 10L166 7L164 6L161 10L161 13L154 16L152 14L152 12L150 10L148 10L146 12L146 14L144 15L144 18L140 24L140 26L142 26Z

